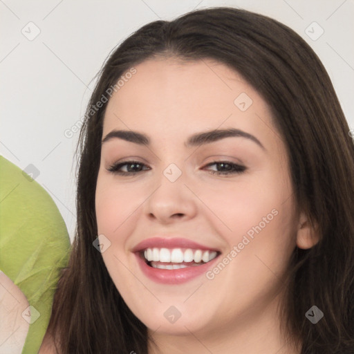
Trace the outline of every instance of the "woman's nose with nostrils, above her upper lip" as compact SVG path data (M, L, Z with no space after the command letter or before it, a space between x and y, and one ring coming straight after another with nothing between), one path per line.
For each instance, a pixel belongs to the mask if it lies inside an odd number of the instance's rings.
M194 218L196 196L185 185L183 175L174 182L162 174L158 185L145 203L145 214L151 221L169 224Z

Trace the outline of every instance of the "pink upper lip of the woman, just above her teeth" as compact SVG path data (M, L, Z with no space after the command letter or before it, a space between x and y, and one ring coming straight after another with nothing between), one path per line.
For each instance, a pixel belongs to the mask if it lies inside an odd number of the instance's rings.
M214 247L209 247L207 245L201 245L201 243L196 243L189 239L183 238L173 238L173 239L164 239L162 237L151 237L141 241L136 245L132 252L140 252L146 250L147 248L193 248L195 250L212 250L217 251L218 249Z

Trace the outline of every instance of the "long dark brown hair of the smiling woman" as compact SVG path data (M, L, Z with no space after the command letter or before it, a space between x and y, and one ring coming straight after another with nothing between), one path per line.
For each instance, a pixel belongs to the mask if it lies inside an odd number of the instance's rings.
M295 248L282 304L284 335L301 354L354 353L354 145L330 78L293 30L235 8L195 10L134 32L104 63L77 146L77 228L48 333L59 353L147 353L147 328L131 313L93 247L95 185L104 109L90 111L124 73L154 56L216 59L243 75L272 110L286 144L297 207L318 225L319 242ZM305 316L317 306L324 317Z

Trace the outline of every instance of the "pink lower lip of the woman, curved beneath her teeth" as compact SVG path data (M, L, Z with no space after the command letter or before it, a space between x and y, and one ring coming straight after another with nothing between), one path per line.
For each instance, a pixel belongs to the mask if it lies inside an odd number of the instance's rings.
M150 265L147 265L144 259L140 257L138 252L136 252L135 255L138 259L138 264L140 265L140 269L142 270L142 272L149 279L156 281L156 283L164 284L180 284L192 280L196 277L199 277L201 274L207 272L207 270L213 265L213 263L215 263L216 259L218 259L218 257L215 257L214 259L212 259L212 261L209 261L202 265L167 270L150 267Z

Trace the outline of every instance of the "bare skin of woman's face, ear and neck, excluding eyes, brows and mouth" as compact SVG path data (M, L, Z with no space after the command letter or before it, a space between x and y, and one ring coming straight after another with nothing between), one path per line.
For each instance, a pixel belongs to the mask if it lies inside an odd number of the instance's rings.
M318 238L296 212L288 156L268 105L239 73L212 60L149 59L136 70L108 102L103 137L113 129L139 131L151 146L104 142L95 195L98 234L111 242L102 257L115 286L160 353L299 353L279 332L280 279L295 246L310 248ZM234 104L241 93L253 101L245 111ZM252 134L265 149L240 137L184 145L194 133L225 128ZM146 167L120 176L107 170L118 160ZM207 166L214 161L247 169L217 176L211 171L220 166ZM174 183L163 174L171 163L182 171ZM212 280L203 274L156 283L131 252L151 236L173 234L217 248L222 260L272 209L277 216ZM174 324L164 316L170 306L181 314ZM157 351L151 346L149 353Z

